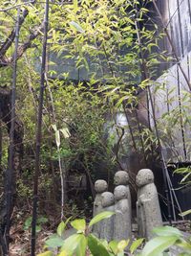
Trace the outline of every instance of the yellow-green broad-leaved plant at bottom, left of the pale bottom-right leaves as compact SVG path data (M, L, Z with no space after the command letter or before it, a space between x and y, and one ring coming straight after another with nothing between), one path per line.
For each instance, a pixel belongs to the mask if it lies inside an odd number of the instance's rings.
M64 230L70 219L66 222L62 221L57 227L57 233L53 234L45 243L45 246L49 250L38 254L38 256L123 256L124 249L130 242L129 240L123 240L118 243L112 241L108 244L107 241L99 240L91 233L91 227L96 224L96 222L110 218L112 215L114 215L112 212L100 213L96 215L88 225L84 219L72 221L71 225L76 229L76 234L67 239L64 239ZM131 253L134 253L142 242L143 239L139 239L131 244Z

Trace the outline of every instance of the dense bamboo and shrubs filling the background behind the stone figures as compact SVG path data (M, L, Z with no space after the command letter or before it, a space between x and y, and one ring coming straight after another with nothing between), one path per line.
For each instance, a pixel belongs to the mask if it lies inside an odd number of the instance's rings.
M183 114L177 107L154 122L155 128L151 128L149 120L140 120L138 114L143 107L155 120L155 109L148 101L152 101L152 93L163 89L163 84L157 83L154 91L151 85L160 61L172 59L169 53L159 50L159 41L165 35L149 11L153 10L152 2L50 1L39 174L39 212L43 216L53 215L60 220L61 212L62 219L71 215L90 217L94 181L104 177L110 183L117 169L126 169L123 158L127 154L136 154L140 166L150 167L154 160L161 160L161 145L169 144L177 153L174 130L179 127L178 120L190 126L190 95L184 92ZM32 214L44 4L37 0L0 0L2 195L9 169L16 20L20 28L13 147L17 164L13 166L12 185L17 194L13 203L18 219ZM178 101L171 98L171 93L169 102ZM140 95L147 98L146 106L139 102ZM125 126L117 122L121 112L125 113ZM187 141L186 149L189 147ZM136 190L135 174L131 178ZM4 200L0 198L2 205Z

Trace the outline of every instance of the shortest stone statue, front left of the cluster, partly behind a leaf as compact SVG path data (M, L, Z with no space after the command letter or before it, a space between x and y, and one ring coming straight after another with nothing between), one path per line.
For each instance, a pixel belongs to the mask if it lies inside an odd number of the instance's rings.
M114 206L114 194L111 192L104 192L101 194L101 203L102 203L102 210L114 212L115 206ZM100 238L107 240L107 242L110 242L113 240L114 236L114 216L105 219L103 221L100 221Z

